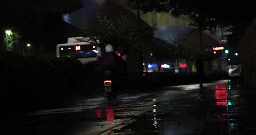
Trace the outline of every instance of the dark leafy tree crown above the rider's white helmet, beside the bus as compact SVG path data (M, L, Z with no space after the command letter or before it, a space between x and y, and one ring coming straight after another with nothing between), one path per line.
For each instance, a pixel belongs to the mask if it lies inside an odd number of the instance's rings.
M137 53L144 48L144 36L151 35L152 29L138 31L136 23L121 14L119 19L111 20L106 16L96 16L97 22L85 35L84 40L91 44L98 44L104 48L111 44L122 54Z

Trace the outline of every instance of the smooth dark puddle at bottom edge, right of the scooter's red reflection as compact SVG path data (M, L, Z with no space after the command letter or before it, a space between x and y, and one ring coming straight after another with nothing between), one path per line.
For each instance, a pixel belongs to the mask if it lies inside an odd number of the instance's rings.
M204 120L199 118L177 117L172 114L140 115L134 123L114 133L116 135L192 135L200 132L203 126Z

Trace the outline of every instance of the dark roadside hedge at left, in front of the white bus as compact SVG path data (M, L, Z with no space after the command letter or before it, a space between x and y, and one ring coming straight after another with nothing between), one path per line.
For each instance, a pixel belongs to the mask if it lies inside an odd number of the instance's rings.
M28 110L54 106L69 99L89 72L76 59L0 54L1 103L19 102ZM33 107L32 107L33 106Z

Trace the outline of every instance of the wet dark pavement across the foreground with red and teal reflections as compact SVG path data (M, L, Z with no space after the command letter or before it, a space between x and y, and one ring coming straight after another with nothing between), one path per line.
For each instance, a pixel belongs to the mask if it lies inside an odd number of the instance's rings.
M65 108L6 116L0 135L254 135L253 90L227 80L79 99ZM18 110L17 110L18 111Z

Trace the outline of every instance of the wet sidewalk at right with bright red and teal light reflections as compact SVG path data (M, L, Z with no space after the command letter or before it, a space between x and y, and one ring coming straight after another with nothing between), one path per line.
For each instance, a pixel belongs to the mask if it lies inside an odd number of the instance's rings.
M216 84L204 93L208 111L200 135L256 134L255 90L231 82Z

